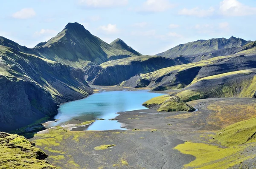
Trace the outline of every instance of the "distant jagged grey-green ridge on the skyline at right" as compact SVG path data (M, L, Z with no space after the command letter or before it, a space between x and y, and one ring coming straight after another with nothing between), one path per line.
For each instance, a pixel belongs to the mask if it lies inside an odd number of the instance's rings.
M189 42L185 44L180 44L175 46L172 49L167 50L166 52L156 54L157 56L163 57L177 57L183 55L184 57L190 57L196 54L203 54L207 52L216 51L219 49L227 49L227 48L237 48L246 45L247 43L251 43L251 41L247 41L241 38L230 37L226 38L215 38L209 40L197 40L194 42Z

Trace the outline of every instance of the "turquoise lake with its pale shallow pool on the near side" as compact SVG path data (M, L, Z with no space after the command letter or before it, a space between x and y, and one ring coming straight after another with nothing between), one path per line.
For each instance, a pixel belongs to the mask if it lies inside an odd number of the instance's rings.
M114 91L100 92L89 97L62 104L58 109L59 119L56 123L49 123L49 126L57 126L72 120L90 121L98 118L106 120L96 120L85 130L113 130L123 129L121 123L109 119L115 118L117 112L147 109L142 104L163 94L150 93L146 90L140 91Z

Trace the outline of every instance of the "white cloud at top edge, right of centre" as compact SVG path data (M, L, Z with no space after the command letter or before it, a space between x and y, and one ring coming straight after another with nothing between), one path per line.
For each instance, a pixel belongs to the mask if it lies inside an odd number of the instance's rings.
M169 0L146 0L140 9L140 12L163 12L168 9L174 8L175 5L171 4Z

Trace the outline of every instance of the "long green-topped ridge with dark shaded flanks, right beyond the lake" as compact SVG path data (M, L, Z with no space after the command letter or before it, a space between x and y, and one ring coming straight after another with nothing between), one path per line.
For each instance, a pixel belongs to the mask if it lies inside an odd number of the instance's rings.
M145 86L153 90L183 89L194 80L204 77L256 68L256 43L248 43L239 51L229 56L213 57L136 75L121 84L126 87L137 87L138 84L147 82Z

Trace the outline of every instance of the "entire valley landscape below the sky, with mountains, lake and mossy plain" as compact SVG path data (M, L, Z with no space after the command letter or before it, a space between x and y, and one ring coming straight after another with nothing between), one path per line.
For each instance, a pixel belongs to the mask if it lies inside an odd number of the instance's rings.
M153 56L79 23L0 37L0 167L254 169L255 80L256 42L233 36Z

